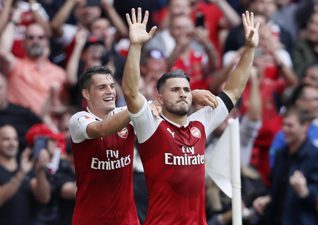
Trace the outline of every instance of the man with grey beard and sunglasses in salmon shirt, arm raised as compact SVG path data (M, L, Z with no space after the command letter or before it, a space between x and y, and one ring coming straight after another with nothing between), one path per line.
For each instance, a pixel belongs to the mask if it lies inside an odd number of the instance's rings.
M21 11L15 10L0 37L0 71L7 77L9 101L39 115L52 87L58 90L56 96L60 96L67 76L63 68L48 60L49 40L38 23L26 28L23 42L26 56L21 59L11 53L13 31L20 19ZM55 104L59 102L60 98Z

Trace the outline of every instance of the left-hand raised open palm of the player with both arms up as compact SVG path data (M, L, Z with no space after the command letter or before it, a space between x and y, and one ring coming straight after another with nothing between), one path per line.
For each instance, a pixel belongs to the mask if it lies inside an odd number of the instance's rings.
M141 19L142 19L141 8L138 8L137 20L136 20L135 9L131 9L132 20L130 20L129 14L128 13L126 14L126 19L129 26L130 45L135 45L135 44L142 45L143 43L149 41L154 35L157 29L156 26L151 28L149 33L147 33L146 31L148 16L149 16L149 12L146 11L143 21L141 22Z

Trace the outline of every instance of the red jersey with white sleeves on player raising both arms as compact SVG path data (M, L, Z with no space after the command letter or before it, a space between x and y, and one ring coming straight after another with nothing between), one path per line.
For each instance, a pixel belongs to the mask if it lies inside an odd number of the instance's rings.
M138 137L149 192L144 225L207 225L205 139L233 108L225 93L217 98L216 109L200 109L183 126L163 115L156 119L146 100L140 112L128 112Z

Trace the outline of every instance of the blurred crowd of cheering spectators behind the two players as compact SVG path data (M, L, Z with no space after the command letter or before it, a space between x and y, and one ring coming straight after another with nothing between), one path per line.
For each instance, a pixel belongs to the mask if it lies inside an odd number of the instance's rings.
M0 0L0 224L72 223L68 122L87 107L79 76L108 67L116 106L125 106L125 14L137 7L149 10L148 30L157 26L142 47L139 90L147 100L156 100L158 79L174 69L189 75L191 89L221 93L244 51L241 13L260 19L250 79L228 116L240 118L243 224L316 225L316 0ZM207 138L205 158L227 119ZM147 187L138 144L133 182L142 223ZM208 224L231 224L231 199L208 176L206 199Z

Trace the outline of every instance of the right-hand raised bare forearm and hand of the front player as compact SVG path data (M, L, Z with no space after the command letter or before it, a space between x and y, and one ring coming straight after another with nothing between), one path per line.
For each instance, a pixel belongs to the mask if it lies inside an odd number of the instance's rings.
M245 15L246 14L246 15ZM246 11L242 14L243 26L245 30L246 45L239 64L232 72L230 78L227 80L223 92L229 96L233 105L239 100L246 82L250 76L255 48L258 45L258 28L260 19L257 21L254 28L254 15Z

